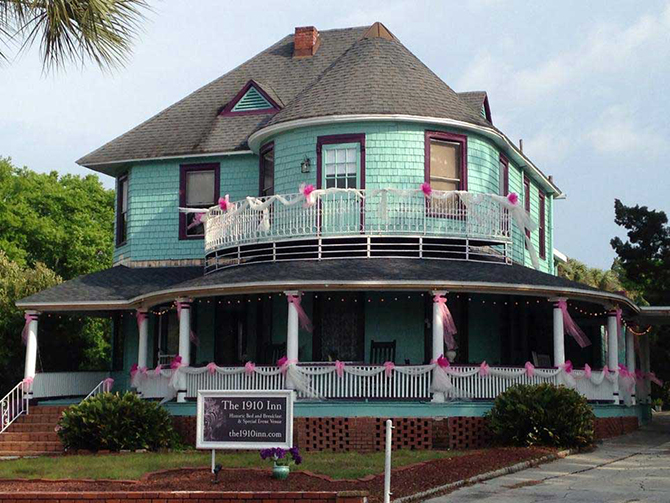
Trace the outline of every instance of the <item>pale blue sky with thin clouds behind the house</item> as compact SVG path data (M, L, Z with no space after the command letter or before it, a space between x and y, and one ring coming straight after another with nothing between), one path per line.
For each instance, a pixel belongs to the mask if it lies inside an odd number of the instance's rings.
M563 253L611 265L615 198L670 213L670 1L149 1L111 73L44 75L36 49L0 63L0 156L90 173L75 160L296 26L381 21L456 91L488 92L494 124L567 195L554 206Z

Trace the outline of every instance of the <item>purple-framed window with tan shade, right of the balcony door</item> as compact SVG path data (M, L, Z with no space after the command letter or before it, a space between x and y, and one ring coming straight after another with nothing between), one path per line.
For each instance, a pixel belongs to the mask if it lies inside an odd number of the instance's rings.
M435 190L468 190L465 136L426 131L425 178Z

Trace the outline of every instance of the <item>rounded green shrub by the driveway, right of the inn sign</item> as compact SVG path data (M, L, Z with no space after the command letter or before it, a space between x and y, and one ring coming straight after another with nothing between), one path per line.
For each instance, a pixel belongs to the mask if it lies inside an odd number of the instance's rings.
M582 447L593 443L594 415L586 398L565 386L516 385L487 414L505 445Z

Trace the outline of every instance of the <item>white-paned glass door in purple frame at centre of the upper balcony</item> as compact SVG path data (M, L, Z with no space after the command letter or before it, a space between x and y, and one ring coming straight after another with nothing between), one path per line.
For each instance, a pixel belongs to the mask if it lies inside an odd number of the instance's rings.
M365 135L320 136L316 150L320 188L365 188Z

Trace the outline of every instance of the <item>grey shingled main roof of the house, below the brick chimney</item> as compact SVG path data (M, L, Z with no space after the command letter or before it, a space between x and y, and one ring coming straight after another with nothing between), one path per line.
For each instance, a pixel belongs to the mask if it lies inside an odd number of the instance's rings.
M299 118L408 114L489 126L383 25L320 32L312 57L293 57L293 35L193 92L77 162L107 173L128 161L245 151L269 124ZM283 106L279 113L221 115L249 81Z

